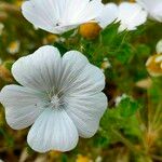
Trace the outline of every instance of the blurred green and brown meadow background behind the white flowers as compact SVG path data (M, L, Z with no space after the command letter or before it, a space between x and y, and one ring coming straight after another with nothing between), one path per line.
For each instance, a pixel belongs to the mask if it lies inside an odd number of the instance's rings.
M21 13L22 2L0 0L0 90L16 83L10 70L17 58L52 44L63 54L79 50L103 69L109 110L98 133L91 139L80 139L75 150L41 154L26 143L28 129L9 127L0 105L0 159L4 162L161 162L162 78L150 77L145 65L162 39L162 24L148 21L138 30L120 35L118 24L111 25L93 40L79 33L58 37L28 23Z

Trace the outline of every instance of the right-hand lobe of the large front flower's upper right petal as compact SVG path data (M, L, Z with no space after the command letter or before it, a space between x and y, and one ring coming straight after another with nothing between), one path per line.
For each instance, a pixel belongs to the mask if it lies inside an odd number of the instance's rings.
M70 95L98 93L105 87L105 76L99 68L87 64L84 68L80 69L78 76L67 87L64 93Z

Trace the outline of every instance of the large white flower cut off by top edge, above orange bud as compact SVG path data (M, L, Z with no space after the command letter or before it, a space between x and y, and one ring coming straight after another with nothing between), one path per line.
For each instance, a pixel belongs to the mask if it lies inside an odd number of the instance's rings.
M102 0L30 0L24 2L22 11L35 26L63 33L94 21L103 8Z

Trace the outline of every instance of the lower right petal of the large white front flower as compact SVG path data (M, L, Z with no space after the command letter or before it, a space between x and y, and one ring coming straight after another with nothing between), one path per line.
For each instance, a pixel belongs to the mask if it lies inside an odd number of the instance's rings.
M66 98L66 111L76 124L81 137L92 137L98 130L99 120L107 108L104 93L71 95Z

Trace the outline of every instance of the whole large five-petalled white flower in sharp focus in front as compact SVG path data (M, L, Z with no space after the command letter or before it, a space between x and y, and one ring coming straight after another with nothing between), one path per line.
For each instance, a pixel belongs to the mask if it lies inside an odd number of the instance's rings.
M92 137L107 108L102 70L80 52L63 57L57 49L42 46L19 58L12 73L21 85L4 86L0 100L9 125L21 130L33 124L27 141L39 152L68 151L79 136Z

